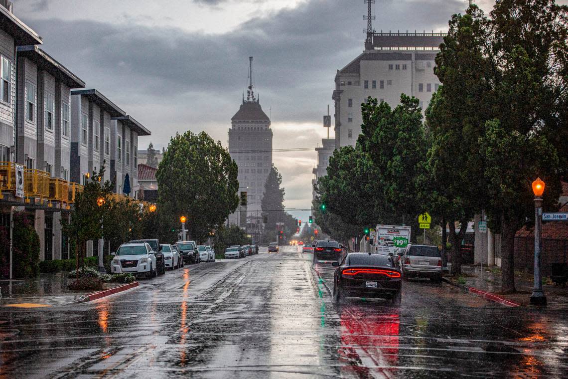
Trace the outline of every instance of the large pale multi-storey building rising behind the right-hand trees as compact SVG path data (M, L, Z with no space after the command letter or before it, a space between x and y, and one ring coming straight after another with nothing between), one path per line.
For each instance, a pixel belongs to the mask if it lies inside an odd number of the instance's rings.
M400 94L414 96L426 109L440 81L434 74L435 58L445 34L372 33L365 51L337 70L335 90L336 148L354 146L361 134L361 103L367 97L400 103Z

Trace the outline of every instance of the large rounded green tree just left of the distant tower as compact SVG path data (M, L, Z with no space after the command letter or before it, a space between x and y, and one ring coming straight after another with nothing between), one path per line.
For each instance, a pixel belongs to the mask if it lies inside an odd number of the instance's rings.
M189 238L202 241L236 210L238 168L207 133L176 134L158 166L158 203L168 224L187 218Z

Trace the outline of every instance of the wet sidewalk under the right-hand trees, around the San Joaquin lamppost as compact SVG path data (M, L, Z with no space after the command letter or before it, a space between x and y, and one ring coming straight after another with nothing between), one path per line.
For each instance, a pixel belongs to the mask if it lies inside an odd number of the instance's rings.
M446 276L454 284L461 284L467 287L473 287L488 293L499 295L511 302L528 306L533 290L533 276L524 272L515 272L515 288L514 294L502 294L501 291L501 270L498 267L480 265L462 265L462 276L453 278ZM544 278L545 284L542 286L546 295L547 309L568 310L568 286L554 286L548 277Z

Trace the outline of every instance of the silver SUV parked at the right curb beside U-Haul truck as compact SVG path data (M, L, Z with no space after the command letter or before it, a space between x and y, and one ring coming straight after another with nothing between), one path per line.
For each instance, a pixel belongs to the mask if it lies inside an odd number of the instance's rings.
M442 256L437 246L408 244L399 249L400 269L404 278L430 278L431 281L442 280Z

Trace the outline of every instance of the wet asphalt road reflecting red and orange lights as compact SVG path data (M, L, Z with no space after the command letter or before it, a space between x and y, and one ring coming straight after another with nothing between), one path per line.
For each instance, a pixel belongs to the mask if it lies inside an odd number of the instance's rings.
M127 293L0 308L0 378L567 377L565 313L446 284L400 307L332 302L333 269L296 248L186 266Z

